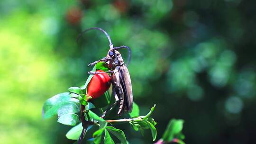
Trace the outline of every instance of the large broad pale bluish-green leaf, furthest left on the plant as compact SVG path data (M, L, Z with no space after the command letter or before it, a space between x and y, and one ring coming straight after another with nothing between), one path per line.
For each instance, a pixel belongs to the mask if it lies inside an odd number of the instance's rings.
M80 112L80 103L78 99L71 98L69 96L69 92L64 92L55 95L54 97L47 99L44 103L43 109L42 109L42 117L44 119L53 117L57 114L59 108L65 107L68 109L69 112L73 113L79 113ZM60 115L66 114L61 113L59 111Z

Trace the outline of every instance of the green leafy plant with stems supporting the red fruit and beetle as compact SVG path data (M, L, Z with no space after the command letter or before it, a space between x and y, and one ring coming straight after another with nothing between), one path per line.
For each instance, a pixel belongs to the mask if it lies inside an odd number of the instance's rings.
M92 71L95 72L96 70L106 71L106 67L104 67L104 64L102 63L97 63ZM124 132L114 126L115 124L129 123L134 130L140 131L142 135L144 134L145 129L150 129L153 141L155 141L157 135L155 128L156 122L154 118L150 117L155 109L155 105L145 116L139 116L139 107L134 103L134 108L128 115L122 116L119 119L112 119L112 117L116 116L116 112L111 113L111 111L115 111L115 108L113 108L103 119L101 118L101 115L115 102L115 100L111 98L111 91L107 90L100 98L89 98L90 102L88 101L88 97L86 96L87 85L91 81L92 76L93 75L90 75L88 77L82 87L71 87L68 89L69 92L60 93L47 99L42 110L43 118L46 119L57 115L57 122L68 126L74 126L66 134L66 137L71 140L83 139L84 135L81 135L83 131L84 133L88 133L91 131L92 127L99 127L93 132L91 135L92 138L88 139L87 143L114 144L115 142L111 137L111 135L114 135L119 139L121 144L128 144ZM175 138L184 138L181 134L182 126L182 120L172 120L169 123L163 138L157 143L163 144L165 142L173 141L183 144L181 140L175 141Z

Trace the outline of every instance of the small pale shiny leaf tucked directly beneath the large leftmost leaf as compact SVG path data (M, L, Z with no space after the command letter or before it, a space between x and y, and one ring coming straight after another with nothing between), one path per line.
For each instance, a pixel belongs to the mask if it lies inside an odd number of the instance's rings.
M58 122L68 126L75 126L80 121L77 114L65 114L59 117Z

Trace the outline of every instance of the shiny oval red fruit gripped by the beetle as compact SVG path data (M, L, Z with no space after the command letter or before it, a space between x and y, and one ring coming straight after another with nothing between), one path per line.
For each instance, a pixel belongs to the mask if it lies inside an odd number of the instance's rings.
M98 70L96 72L104 72ZM87 87L87 97L97 99L110 88L110 76L107 73L95 74Z

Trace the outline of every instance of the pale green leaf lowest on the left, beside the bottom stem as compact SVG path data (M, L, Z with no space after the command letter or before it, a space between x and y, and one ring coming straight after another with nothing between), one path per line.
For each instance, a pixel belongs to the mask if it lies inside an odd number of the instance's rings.
M92 126L88 126L86 132L91 129ZM82 133L82 123L72 127L66 134L66 137L71 140L78 140Z

